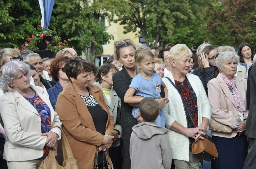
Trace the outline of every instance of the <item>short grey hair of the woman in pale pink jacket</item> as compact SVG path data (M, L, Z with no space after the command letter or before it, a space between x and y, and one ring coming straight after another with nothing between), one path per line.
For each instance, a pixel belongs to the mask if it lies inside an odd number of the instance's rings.
M219 52L219 56L216 58L216 66L217 68L220 70L221 67L222 67L222 64L225 62L225 61L231 61L233 59L236 59L237 63L239 62L240 60L240 57L236 55L236 53L234 52L230 52L230 51L227 51L227 52Z

